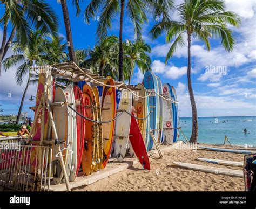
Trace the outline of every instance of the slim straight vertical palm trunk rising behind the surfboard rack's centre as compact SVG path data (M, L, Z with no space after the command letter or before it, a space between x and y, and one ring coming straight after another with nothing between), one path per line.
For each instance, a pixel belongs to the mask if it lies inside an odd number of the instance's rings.
M119 81L123 81L123 19L124 19L124 3L121 0L121 14L120 14L120 30L119 30Z

